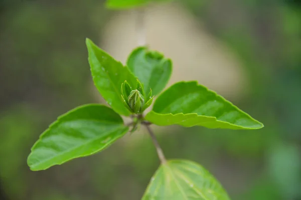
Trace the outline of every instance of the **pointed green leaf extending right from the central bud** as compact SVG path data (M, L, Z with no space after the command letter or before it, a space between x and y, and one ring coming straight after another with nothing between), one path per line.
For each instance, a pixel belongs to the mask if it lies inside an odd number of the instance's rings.
M178 82L164 91L145 119L157 125L258 129L263 124L197 81Z

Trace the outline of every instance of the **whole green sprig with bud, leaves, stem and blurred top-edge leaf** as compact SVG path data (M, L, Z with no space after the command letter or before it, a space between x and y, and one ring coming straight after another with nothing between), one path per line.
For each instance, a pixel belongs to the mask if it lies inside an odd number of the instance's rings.
M149 1L156 0L108 0L107 5L124 8ZM229 200L219 181L200 164L167 159L150 125L259 129L263 124L197 81L177 82L163 91L172 61L158 51L139 46L124 66L88 38L86 45L94 84L110 107L86 104L59 116L33 145L27 161L31 170L97 153L142 125L161 165L141 199ZM153 109L145 115L155 96ZM131 122L124 124L121 115L131 117Z

